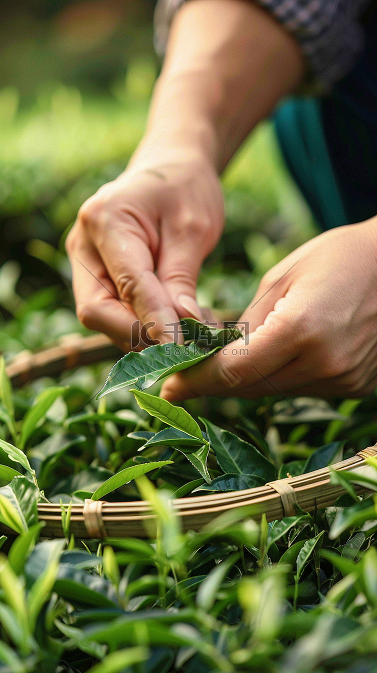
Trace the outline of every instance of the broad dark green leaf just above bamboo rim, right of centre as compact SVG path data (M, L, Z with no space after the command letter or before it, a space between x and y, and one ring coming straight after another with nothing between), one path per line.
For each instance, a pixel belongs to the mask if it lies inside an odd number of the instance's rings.
M222 430L207 419L200 420L205 424L217 462L226 474L252 474L260 476L264 483L276 478L275 466L252 444L228 430Z

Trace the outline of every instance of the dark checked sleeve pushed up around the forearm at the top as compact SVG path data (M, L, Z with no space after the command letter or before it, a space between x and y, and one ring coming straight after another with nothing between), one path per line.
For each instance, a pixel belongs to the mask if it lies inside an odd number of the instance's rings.
M170 24L187 0L158 0L155 48L163 55ZM321 90L351 69L362 52L364 32L359 17L370 0L256 0L291 32L308 63L309 78Z

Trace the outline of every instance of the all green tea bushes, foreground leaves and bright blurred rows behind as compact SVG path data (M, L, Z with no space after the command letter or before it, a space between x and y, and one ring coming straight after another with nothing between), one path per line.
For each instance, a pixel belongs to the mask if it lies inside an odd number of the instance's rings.
M103 99L59 84L28 110L18 110L12 89L0 94L6 361L85 334L64 240L79 205L123 170L141 136L148 94L135 96L132 81ZM316 229L268 122L228 168L224 190L226 230L199 302L241 312L261 275ZM376 396L207 398L178 411L156 402L153 358L146 376L129 361L121 385L113 385L119 371L108 378L110 363L100 363L16 391L1 363L0 521L13 535L0 540L0 670L376 671L376 500L357 495L352 476L333 476L345 489L334 507L280 522L256 524L238 510L182 532L171 504L173 494L244 489L371 446ZM102 388L108 394L96 400ZM370 463L364 485L373 493ZM147 540L75 540L69 503L88 495L148 499L157 528ZM36 510L44 499L61 503L63 540L44 537Z

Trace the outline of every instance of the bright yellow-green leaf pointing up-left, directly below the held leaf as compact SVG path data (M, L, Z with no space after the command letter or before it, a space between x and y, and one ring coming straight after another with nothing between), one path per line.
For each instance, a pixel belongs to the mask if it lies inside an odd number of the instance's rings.
M147 392L140 392L139 390L131 390L135 395L137 404L147 411L151 416L155 416L164 423L172 425L177 430L181 430L192 437L197 437L203 441L201 429L197 421L181 406L174 406L168 400L163 400L161 397L149 395Z

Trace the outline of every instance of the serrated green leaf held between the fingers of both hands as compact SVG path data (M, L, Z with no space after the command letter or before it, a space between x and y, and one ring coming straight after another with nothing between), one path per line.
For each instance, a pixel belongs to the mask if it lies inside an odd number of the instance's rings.
M156 381L174 374L175 371L196 365L216 350L201 351L194 343L189 346L164 343L149 346L141 353L131 351L112 367L97 399L125 386L133 385L138 390L149 388Z

